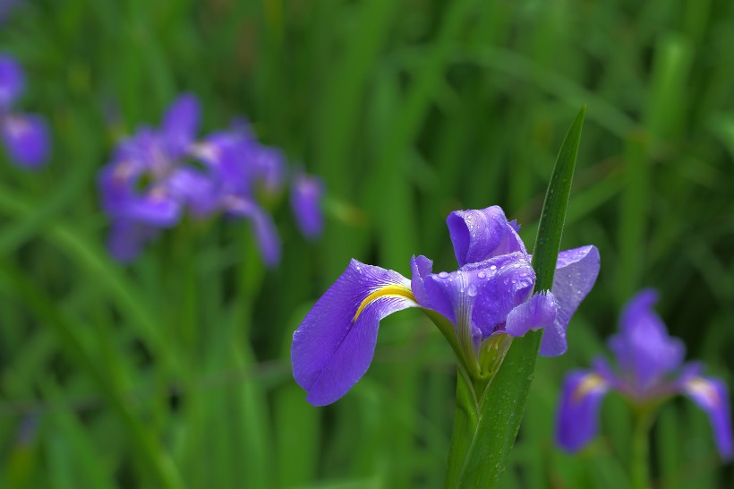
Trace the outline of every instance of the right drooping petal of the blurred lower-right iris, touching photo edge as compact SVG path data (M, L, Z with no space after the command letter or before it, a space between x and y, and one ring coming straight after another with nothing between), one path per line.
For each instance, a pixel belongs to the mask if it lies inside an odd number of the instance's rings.
M722 459L734 455L731 434L729 390L724 382L710 377L691 377L681 390L709 416L713 437Z

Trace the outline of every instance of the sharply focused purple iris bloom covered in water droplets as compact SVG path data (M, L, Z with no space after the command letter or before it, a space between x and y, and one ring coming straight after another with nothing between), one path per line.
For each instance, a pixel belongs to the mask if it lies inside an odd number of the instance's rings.
M414 256L407 279L352 260L306 314L294 332L291 360L309 402L323 406L344 396L371 363L380 320L409 307L450 324L442 332L473 377L491 374L487 351L528 330L545 329L542 355L566 351L568 322L599 272L598 250L559 253L552 290L533 296L531 256L503 210L457 210L447 224L458 270L432 273L431 260Z

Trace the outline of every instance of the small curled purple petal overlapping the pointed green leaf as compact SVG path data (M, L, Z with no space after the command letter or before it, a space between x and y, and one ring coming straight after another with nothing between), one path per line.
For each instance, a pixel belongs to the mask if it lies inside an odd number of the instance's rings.
M552 328L556 321L558 305L552 293L536 294L508 313L505 330L514 337L525 336L529 330L545 328L541 350L558 351L566 346L566 331Z

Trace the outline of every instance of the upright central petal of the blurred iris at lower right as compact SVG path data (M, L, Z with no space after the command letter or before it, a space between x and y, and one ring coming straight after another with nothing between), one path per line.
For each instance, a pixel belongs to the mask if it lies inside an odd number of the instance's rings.
M639 392L677 368L686 352L683 342L668 335L665 324L653 311L656 302L657 294L652 289L634 296L622 313L619 334L609 341L619 367Z

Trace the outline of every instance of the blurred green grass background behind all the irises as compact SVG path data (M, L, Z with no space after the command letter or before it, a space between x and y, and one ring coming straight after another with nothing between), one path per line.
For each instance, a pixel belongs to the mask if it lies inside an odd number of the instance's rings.
M534 226L568 124L588 105L562 248L602 271L542 358L504 484L628 485L629 417L572 457L553 443L564 373L603 354L619 308L658 287L687 357L732 381L734 4L454 0L27 1L0 26L21 107L53 158L0 161L0 485L441 487L454 361L421 313L382 323L371 370L308 405L293 330L352 257L409 271L456 262L451 210L501 205ZM246 224L186 222L130 267L105 248L98 170L183 90L205 130L249 117L328 186L315 244L286 200L265 270ZM653 430L654 487L734 486L690 402Z

